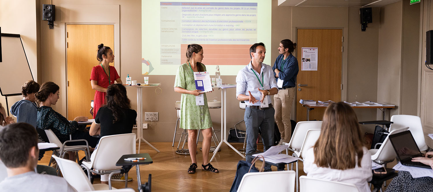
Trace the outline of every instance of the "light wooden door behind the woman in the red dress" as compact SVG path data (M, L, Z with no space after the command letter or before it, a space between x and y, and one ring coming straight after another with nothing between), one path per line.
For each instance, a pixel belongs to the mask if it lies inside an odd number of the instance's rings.
M66 25L66 32L68 120L80 115L90 119L93 118L90 101L95 94L90 85L90 72L99 64L96 58L99 44L115 49L114 25Z

